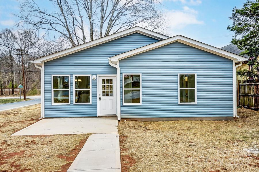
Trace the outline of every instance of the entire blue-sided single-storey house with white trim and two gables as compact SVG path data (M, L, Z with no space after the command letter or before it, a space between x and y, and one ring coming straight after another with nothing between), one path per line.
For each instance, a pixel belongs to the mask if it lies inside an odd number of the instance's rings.
M243 56L135 27L33 60L42 118L233 119Z

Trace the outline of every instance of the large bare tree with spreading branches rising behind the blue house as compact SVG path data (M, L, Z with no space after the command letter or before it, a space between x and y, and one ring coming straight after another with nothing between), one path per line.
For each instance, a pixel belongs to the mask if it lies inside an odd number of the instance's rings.
M16 16L31 30L58 34L59 39L69 42L70 46L85 43L88 35L94 40L134 26L160 32L165 29L165 17L157 0L49 1L56 7L55 11L26 0L20 3L21 13Z

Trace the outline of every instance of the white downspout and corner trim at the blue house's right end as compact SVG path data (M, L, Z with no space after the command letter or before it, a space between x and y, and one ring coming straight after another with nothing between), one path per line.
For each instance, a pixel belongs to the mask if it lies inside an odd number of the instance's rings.
M237 115L237 67L241 66L243 62L239 62L235 66L235 61L233 60L233 116L239 118Z

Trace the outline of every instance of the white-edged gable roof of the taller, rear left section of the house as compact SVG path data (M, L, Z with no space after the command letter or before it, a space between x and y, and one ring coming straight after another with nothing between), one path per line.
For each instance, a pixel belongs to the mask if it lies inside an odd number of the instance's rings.
M134 33L140 33L140 34L143 34L143 35L146 35L146 36L158 39L158 40L164 40L164 39L170 38L169 36L165 36L163 34L159 34L157 32L153 32L151 30L147 30L147 29L136 26L134 28L123 30L123 31L117 32L115 34L111 34L111 35L108 35L108 36L105 36L105 37L102 37L102 38L99 38L96 40L86 42L84 44L80 44L78 46L67 48L65 50L37 58L35 60L32 60L31 62L33 62L35 64L42 64L43 62L47 62L47 61L50 61L50 60L53 60L53 59L56 59L56 58L59 58L62 56L66 56L68 54L72 54L74 52L78 52L78 51L81 51L81 50L84 50L84 49L87 49L87 48L90 48L90 47L93 47L93 46L96 46L99 44L103 44L105 42L109 42L109 41L121 38L123 36L134 34Z

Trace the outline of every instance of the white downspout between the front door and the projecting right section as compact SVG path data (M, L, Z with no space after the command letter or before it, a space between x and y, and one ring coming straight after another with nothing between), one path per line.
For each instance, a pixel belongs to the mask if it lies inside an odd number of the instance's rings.
M111 62L111 58L109 59L109 64L115 68L117 68L117 117L118 120L121 120L121 69L119 67L119 60L117 65Z

